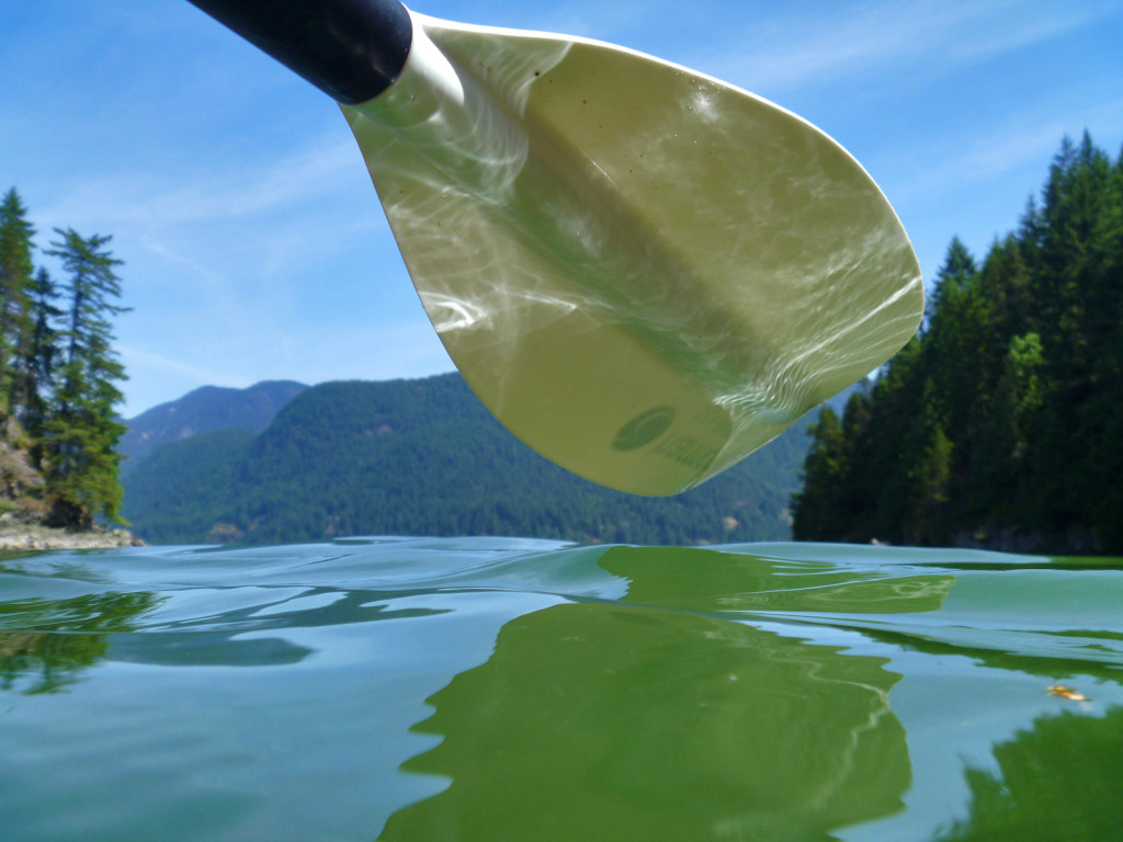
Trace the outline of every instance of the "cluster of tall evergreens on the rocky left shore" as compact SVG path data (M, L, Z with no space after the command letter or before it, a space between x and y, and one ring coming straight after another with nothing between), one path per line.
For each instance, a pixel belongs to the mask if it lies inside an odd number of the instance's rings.
M51 525L120 521L125 368L112 319L127 311L108 236L55 228L35 266L35 236L15 187L0 201L0 512Z

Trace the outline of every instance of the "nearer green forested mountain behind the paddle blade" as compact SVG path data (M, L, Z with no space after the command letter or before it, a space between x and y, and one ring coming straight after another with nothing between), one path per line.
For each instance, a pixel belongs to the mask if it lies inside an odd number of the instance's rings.
M124 512L156 543L354 534L783 540L809 423L699 488L639 497L538 456L457 374L326 383L301 392L256 436L221 430L155 448L124 479Z

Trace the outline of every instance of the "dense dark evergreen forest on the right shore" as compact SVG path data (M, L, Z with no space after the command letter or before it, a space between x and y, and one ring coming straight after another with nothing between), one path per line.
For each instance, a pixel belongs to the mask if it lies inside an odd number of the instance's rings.
M919 335L812 428L802 540L1123 551L1123 155L1065 140L977 262L958 239Z

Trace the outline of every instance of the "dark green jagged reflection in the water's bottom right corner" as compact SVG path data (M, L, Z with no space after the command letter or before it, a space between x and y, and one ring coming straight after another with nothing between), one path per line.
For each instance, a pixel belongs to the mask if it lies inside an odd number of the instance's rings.
M994 748L1001 772L968 768L970 815L943 842L1123 839L1123 707L1066 712Z

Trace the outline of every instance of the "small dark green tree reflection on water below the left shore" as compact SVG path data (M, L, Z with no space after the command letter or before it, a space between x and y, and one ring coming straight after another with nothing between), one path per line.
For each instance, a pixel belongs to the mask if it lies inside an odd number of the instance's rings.
M89 594L0 603L0 690L54 693L106 657L109 634L159 603L155 594Z

